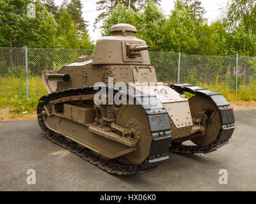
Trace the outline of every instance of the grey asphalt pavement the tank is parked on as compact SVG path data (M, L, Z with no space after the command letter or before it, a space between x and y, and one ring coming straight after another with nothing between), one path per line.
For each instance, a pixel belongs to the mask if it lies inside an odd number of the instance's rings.
M256 191L256 110L235 111L230 143L209 154L173 154L157 170L106 173L47 140L37 120L0 122L0 191ZM28 170L36 184L29 185ZM227 184L220 184L220 170Z

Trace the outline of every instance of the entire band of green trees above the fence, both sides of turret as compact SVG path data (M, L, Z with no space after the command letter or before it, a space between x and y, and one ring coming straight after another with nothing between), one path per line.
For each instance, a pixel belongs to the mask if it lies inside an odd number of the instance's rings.
M82 16L81 0L36 0L36 18L28 19L26 6L32 0L0 1L0 47L93 48ZM207 24L200 0L175 0L166 17L159 0L100 0L104 20L102 35L118 23L134 25L136 36L145 40L152 51L182 52L194 55L256 56L256 2L230 0L227 12Z

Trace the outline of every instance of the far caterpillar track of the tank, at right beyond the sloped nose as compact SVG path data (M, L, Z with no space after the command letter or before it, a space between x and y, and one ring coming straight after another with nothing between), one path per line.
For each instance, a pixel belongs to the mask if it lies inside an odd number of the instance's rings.
M209 89L200 88L196 85L189 84L171 84L170 87L175 91L179 92L180 94L183 94L184 92L189 92L191 94L210 98L220 111L221 117L221 130L216 141L212 142L206 147L200 147L198 145L182 145L181 143L172 142L170 146L170 152L206 154L228 143L228 140L231 138L232 133L234 132L236 126L234 124L234 112L230 107L230 104L222 96L222 94L210 91Z

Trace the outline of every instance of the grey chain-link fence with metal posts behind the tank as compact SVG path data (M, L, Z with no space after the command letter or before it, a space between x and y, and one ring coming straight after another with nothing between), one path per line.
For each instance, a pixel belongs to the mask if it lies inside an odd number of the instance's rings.
M41 80L44 69L60 69L92 49L0 48L0 98L39 98L47 94ZM186 82L196 85L250 84L255 76L256 57L217 57L175 52L149 52L159 82ZM28 73L28 78L26 78ZM28 79L28 83L26 82ZM28 85L28 92L26 89Z

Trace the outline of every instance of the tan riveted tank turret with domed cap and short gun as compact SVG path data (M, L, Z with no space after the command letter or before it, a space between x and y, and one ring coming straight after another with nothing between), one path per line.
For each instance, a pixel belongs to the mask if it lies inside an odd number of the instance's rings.
M110 32L113 36L97 40L92 64L150 65L150 47L134 36L134 26L117 24L111 27Z

